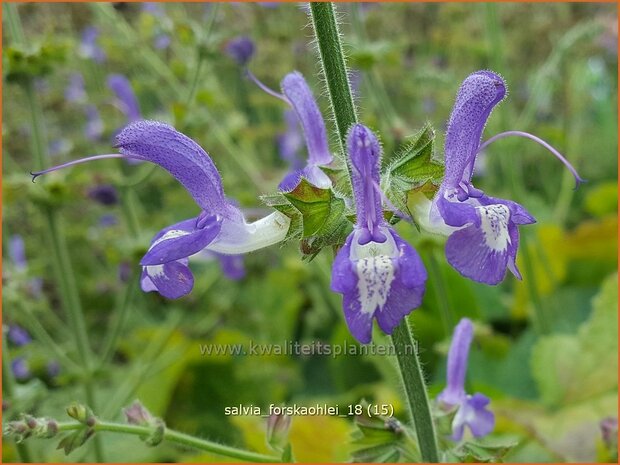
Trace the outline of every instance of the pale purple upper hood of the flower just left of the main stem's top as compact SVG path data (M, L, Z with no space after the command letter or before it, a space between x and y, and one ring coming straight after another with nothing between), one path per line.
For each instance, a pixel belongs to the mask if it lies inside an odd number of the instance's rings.
M329 151L325 122L306 80L295 71L282 79L281 86L303 128L308 147L308 164L328 165L333 157Z

